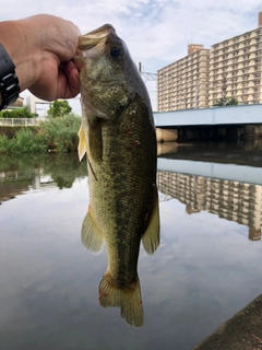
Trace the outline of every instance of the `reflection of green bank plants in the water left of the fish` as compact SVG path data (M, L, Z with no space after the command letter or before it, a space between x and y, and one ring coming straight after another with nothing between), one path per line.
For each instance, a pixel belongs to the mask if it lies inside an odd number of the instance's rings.
M0 203L27 190L70 188L86 176L86 165L76 154L0 156Z

